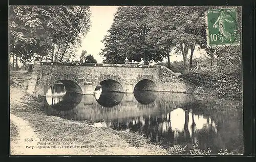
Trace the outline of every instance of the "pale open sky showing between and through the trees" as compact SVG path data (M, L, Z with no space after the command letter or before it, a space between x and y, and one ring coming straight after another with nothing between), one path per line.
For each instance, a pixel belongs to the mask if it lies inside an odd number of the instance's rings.
M101 42L104 36L108 33L112 22L114 20L114 14L117 11L117 6L91 6L92 13L92 26L86 37L82 40L82 46L77 51L77 58L79 58L82 50L86 50L87 54L92 54L94 58L101 63L103 57L99 55L99 52L104 48L104 44ZM190 53L190 51L188 51ZM205 53L204 50L195 50L194 57L203 56L200 53ZM170 62L183 60L182 55L170 56ZM167 59L164 59L167 61Z

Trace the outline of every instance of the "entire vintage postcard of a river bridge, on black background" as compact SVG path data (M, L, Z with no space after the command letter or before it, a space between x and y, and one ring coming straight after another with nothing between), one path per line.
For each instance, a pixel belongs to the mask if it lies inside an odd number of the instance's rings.
M241 6L9 6L10 155L242 155Z

